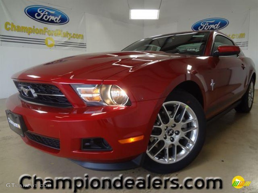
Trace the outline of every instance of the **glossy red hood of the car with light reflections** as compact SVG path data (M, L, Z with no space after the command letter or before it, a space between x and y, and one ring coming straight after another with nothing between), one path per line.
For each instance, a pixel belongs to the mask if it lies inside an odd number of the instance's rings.
M85 80L105 80L119 72L133 69L146 63L186 57L186 55L166 52L101 52L70 56L41 64L18 72L12 76L19 80L80 82Z

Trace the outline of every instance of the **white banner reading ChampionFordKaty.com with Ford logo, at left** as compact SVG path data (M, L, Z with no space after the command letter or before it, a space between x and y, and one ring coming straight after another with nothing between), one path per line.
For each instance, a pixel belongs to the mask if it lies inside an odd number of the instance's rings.
M85 13L38 1L0 0L0 42L86 51Z

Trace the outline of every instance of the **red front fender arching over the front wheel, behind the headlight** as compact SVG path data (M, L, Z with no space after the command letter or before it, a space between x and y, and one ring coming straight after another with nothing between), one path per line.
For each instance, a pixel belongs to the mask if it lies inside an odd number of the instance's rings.
M190 61L194 57L187 59L165 60L155 64L145 65L135 71L123 71L117 75L118 80L103 81L103 84L116 84L123 88L129 96L131 102L160 99L164 101L173 89L185 81L195 82L203 95L206 104L205 90L207 86L204 80L199 77L197 66L191 65L191 72L187 69ZM115 79L113 77L113 79ZM205 89L206 88L206 89Z

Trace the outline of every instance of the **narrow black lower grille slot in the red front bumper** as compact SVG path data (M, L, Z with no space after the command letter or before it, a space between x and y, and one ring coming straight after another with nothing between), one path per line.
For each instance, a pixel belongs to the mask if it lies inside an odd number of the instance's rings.
M30 133L28 131L25 132L25 135L32 141L35 141L35 142L40 143L42 145L60 150L59 139L44 137L42 135L36 135L36 134Z

